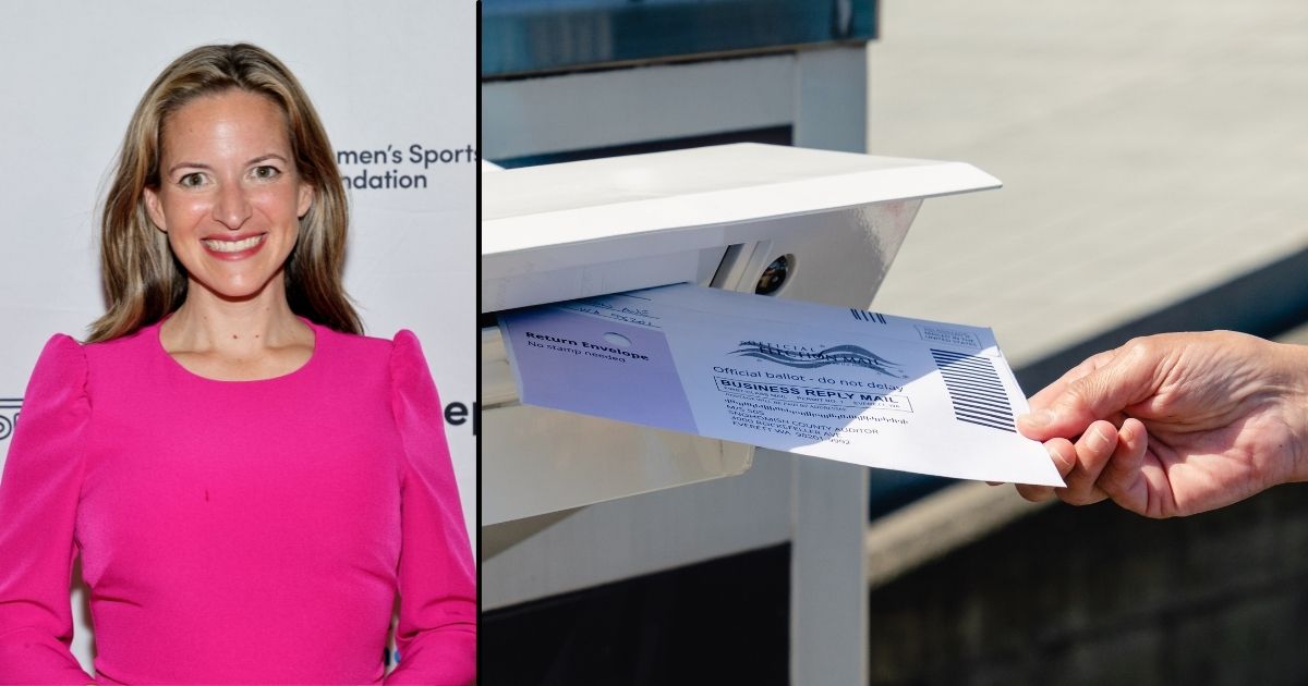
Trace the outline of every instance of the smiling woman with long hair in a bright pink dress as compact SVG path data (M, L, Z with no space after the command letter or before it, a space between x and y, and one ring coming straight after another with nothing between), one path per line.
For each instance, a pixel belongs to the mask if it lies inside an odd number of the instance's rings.
M439 399L412 333L360 335L345 222L268 52L196 48L145 93L103 213L109 311L46 345L0 480L0 683L90 681L77 555L97 683L473 681Z

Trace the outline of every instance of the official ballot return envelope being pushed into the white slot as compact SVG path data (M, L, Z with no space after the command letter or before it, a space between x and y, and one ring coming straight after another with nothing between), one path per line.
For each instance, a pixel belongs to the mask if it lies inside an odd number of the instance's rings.
M1062 486L988 328L675 285L502 312L522 402L814 457Z

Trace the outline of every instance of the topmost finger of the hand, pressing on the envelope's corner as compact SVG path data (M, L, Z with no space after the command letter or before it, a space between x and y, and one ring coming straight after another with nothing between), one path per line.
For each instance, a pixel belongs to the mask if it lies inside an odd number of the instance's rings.
M1048 405L1025 417L1019 429L1036 440L1083 433L1095 419L1113 417L1154 395L1156 371L1165 354L1167 349L1154 341L1133 341L1104 366L1069 382Z

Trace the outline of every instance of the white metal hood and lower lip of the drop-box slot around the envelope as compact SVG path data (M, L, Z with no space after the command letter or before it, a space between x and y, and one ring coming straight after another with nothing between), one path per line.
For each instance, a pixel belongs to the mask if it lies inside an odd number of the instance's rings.
M487 315L678 282L866 308L925 197L998 186L959 162L759 144L483 175L483 525L740 474L753 456L519 405Z

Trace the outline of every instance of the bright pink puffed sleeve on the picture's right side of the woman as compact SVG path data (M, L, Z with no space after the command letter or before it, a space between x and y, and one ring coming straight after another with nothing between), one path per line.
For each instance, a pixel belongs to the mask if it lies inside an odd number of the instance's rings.
M441 400L417 337L395 335L391 406L404 440L399 666L386 683L476 681L476 584Z

